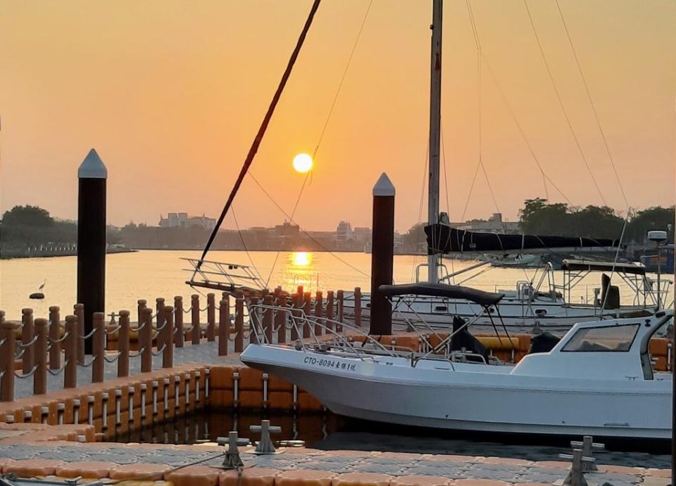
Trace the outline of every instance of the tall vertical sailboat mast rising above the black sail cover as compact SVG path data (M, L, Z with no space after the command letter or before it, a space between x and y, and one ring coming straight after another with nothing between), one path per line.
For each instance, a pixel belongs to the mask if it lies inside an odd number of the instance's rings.
M430 181L427 224L439 222L439 152L442 120L442 11L443 0L432 0L432 58L430 61ZM437 255L427 256L427 280L439 281Z

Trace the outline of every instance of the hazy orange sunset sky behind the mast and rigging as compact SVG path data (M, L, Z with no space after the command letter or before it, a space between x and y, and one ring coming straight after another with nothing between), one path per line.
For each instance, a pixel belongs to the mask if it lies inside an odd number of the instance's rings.
M632 207L674 200L676 2L560 0ZM75 217L76 171L94 147L108 166L108 220L220 212L311 0L0 2L0 205ZM302 183L368 0L325 0L253 172L285 210ZM623 209L553 0L530 0L573 127L608 203ZM600 204L561 114L522 0L472 0L484 53L545 172L576 205ZM477 51L465 1L444 9L442 118L451 220L477 164ZM396 227L417 222L429 110L431 1L374 0L296 220L370 225L380 172ZM542 177L484 69L483 155L508 219L544 196ZM443 185L443 184L442 184ZM563 198L549 187L552 200ZM283 216L249 179L242 226ZM442 210L446 196L442 193ZM467 217L494 212L480 175ZM423 219L426 218L426 206ZM227 221L232 227L232 219Z

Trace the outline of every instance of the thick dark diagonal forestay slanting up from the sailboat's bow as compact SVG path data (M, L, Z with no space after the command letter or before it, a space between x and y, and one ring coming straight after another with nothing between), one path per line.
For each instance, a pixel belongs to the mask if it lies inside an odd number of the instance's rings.
M209 251L209 248L211 248L211 244L213 243L214 238L218 234L218 230L220 229L220 225L223 224L223 219L225 219L225 215L227 214L227 211L230 210L230 206L232 205L232 201L234 200L234 196L237 195L237 191L239 191L239 186L242 185L242 181L244 181L244 177L246 176L246 172L249 171L249 167L251 167L251 163L253 162L253 158L256 156L256 152L258 152L258 147L261 145L261 141L263 141L263 135L265 135L265 131L268 129L268 124L270 124L270 120L273 117L273 113L275 113L275 108L277 107L277 103L280 101L280 97L282 96L282 91L284 91L284 87L287 84L287 81L289 80L289 76L291 75L291 72L294 68L294 64L296 63L296 59L299 56L299 53L301 51L301 47L303 46L303 42L305 41L305 38L308 34L308 30L310 30L310 26L312 25L312 21L315 18L315 13L317 12L317 9L319 8L319 4L321 3L322 0L314 0L312 7L310 9L310 13L308 14L308 18L305 21L305 25L303 25L303 30L301 30L301 34L298 38L298 41L296 41L296 47L294 47L294 51L291 54L291 58L289 58L289 62L287 63L287 68L284 70L284 74L282 75L282 79L280 80L280 84L277 86L277 90L275 91L275 94L273 95L272 101L270 101L270 105L268 106L268 111L265 113L265 117L263 117L263 122L261 122L261 127L258 128L258 132L256 133L256 137L253 139L253 143L251 143L251 148L249 148L249 153L246 154L246 159L244 160L244 165L242 166L242 170L239 171L239 176L237 176L237 181L234 182L234 186L232 188L232 191L230 191L230 196L228 196L227 201L225 202L225 207L223 207L223 211L221 211L220 216L218 217L218 221L216 222L216 225L213 228L213 231L211 232L211 235L209 236L209 239L206 243L206 246L204 247L204 251L202 252L202 256L199 259L199 262L197 263L197 267L195 270L199 270L199 268L202 265L202 262L204 261L204 257L206 257L207 252Z

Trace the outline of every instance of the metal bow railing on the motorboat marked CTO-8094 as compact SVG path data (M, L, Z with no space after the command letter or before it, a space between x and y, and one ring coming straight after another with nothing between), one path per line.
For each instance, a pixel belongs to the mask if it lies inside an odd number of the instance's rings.
M279 318L279 313L282 313L282 319ZM332 349L356 354L360 359L368 359L373 354L397 357L401 356L402 352L406 353L397 350L396 346L382 345L356 326L325 316L308 315L301 307L254 304L249 307L249 320L253 340L261 345L285 347L293 345L297 350L313 351ZM277 326L284 326L284 330L291 331L291 335L295 338L291 343L275 343L274 335L279 328L270 327L270 323L280 323ZM361 343L361 346L356 343ZM371 348L365 347L367 343ZM408 354L406 356L408 357Z

